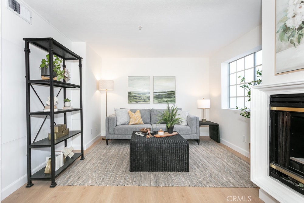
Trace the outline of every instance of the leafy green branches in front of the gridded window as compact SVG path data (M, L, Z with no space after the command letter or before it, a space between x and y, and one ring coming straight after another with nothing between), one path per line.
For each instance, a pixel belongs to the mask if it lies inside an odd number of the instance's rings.
M257 77L262 77L262 71L257 70ZM240 87L245 88L245 90L247 91L246 96L248 97L247 101L250 101L250 99L251 99L251 92L250 92L251 86L254 85L254 84L255 85L260 85L262 83L262 79L258 78L257 80L254 80L254 81L251 81L251 82L246 82L245 78L242 77L242 75L240 75L239 78L240 78L240 82L244 82L244 84L241 85ZM239 107L236 107L236 108L241 110L241 113L240 113L241 116L244 116L245 118L250 118L250 109L249 108L247 108L246 106L245 106L245 108L239 108Z

